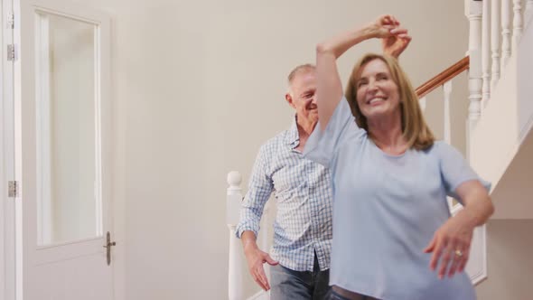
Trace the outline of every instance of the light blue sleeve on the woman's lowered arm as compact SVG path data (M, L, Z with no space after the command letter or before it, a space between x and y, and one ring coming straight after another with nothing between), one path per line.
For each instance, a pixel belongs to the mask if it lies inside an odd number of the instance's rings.
M491 190L491 183L482 180L457 149L444 142L439 142L438 146L440 150L441 175L448 196L463 204L463 200L460 199L456 191L459 185L470 180L477 180L482 183L487 192Z

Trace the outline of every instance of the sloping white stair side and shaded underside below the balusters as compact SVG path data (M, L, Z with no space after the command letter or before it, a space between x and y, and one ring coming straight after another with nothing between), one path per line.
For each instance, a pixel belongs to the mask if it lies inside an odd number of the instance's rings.
M493 185L493 219L533 218L532 83L533 25L528 22L471 136L471 164Z

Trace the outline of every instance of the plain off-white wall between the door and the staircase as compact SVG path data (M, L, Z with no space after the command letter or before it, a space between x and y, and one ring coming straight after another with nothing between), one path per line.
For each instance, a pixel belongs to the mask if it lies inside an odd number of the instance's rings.
M313 62L317 42L395 14L414 37L401 61L417 86L468 41L461 1L84 3L113 16L117 295L128 300L227 297L226 173L248 178L259 145L288 127L286 74ZM341 59L343 78L368 51L379 43Z

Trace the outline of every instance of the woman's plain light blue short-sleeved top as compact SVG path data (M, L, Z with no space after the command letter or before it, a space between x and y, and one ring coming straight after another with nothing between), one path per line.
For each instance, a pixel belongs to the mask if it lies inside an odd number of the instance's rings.
M357 127L342 99L304 153L332 172L331 285L384 300L475 299L464 272L439 280L423 252L450 218L446 194L479 179L457 150L436 142L388 155Z

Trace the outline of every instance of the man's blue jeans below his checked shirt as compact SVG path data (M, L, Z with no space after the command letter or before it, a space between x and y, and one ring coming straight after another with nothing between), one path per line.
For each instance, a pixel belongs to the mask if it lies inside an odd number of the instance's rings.
M271 300L326 300L330 270L321 271L314 256L313 272L294 271L281 265L270 267Z

